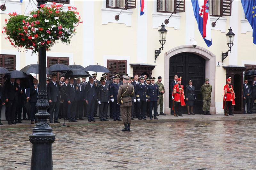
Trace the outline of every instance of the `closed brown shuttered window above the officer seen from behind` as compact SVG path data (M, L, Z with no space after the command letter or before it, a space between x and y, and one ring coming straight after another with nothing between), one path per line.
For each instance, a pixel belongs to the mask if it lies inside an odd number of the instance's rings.
M110 71L108 73L108 79L115 76L116 73L119 73L120 80L122 80L122 76L126 74L126 65L126 60L107 60L107 68Z

